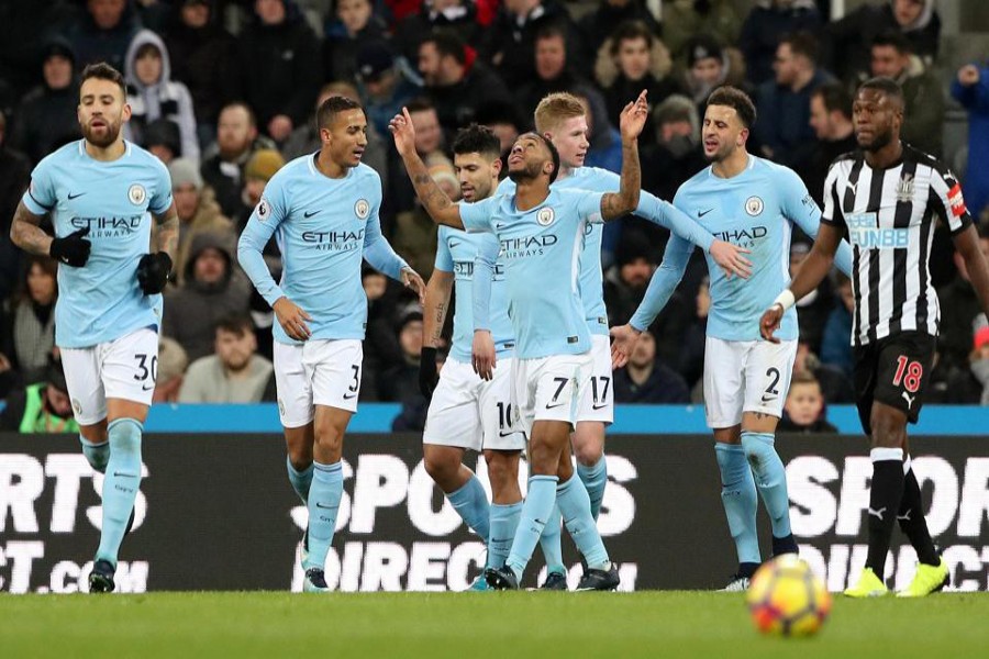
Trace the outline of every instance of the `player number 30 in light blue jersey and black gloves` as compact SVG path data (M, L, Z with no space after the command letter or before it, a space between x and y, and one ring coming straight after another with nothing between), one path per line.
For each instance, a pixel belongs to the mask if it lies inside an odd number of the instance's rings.
M82 139L37 164L10 235L22 249L60 264L55 344L82 453L104 474L89 590L110 592L141 485L141 435L155 389L160 293L178 215L165 165L121 136L131 108L119 71L86 67L78 115ZM48 213L55 237L38 226ZM148 254L152 217L157 249Z

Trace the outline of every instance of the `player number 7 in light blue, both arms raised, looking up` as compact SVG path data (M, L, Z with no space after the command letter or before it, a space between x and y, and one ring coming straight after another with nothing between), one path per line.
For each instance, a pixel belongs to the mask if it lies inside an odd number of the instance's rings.
M580 255L588 222L611 220L638 204L641 171L637 137L647 114L645 92L622 112L622 182L616 193L551 190L559 154L542 135L526 133L509 157L514 194L473 204L454 204L429 177L415 154L407 111L392 120L396 147L433 220L456 228L493 233L499 243L481 245L478 264L504 266L509 315L515 336L512 403L530 439L529 492L508 561L486 570L497 589L518 589L543 528L558 503L588 569L578 590L612 590L618 570L608 557L590 500L567 450L577 403L590 384L591 335L579 293ZM500 256L499 256L500 255ZM478 277L476 281L489 281ZM475 305L475 327L487 310ZM478 317L477 314L481 314Z

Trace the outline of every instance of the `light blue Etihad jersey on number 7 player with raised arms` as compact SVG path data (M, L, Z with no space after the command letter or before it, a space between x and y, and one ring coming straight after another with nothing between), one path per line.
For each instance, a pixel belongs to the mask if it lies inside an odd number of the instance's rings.
M580 299L580 254L588 222L601 222L601 197L586 190L551 189L529 211L514 194L498 194L458 209L464 227L489 232L498 245L479 246L478 258L504 265L515 356L535 359L577 355L591 347Z

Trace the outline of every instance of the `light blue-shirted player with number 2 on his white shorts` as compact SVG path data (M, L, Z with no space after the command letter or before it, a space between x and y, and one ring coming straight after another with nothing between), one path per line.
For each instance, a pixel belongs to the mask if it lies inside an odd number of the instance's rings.
M821 211L792 170L747 153L755 107L732 87L715 90L704 113L708 167L680 186L674 204L721 239L746 247L748 279L729 278L708 257L711 311L704 348L704 412L714 431L721 499L738 554L738 571L725 590L745 590L758 568L757 494L773 524L773 554L797 552L776 425L782 413L797 355L797 313L789 310L779 343L763 340L759 317L789 281L792 224L815 236ZM645 299L627 325L614 327L612 354L623 366L679 283L693 245L673 236ZM848 272L847 244L837 264Z

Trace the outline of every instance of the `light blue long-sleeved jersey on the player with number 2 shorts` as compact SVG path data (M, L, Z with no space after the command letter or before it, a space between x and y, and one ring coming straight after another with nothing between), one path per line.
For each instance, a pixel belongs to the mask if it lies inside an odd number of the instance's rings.
M751 250L748 279L725 277L708 255L711 310L708 336L724 340L759 340L759 319L790 282L790 237L796 223L808 235L816 236L821 210L807 186L791 169L748 156L742 174L725 179L711 167L702 169L677 191L674 204L714 235ZM632 317L631 324L645 330L669 300L687 268L693 245L671 236L663 263ZM835 264L849 271L852 255L843 243ZM797 338L797 309L784 314L776 333L781 339Z

